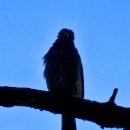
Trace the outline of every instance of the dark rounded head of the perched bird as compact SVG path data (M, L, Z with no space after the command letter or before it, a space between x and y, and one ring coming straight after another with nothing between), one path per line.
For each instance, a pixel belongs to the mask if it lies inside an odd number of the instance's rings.
M62 39L62 40L74 40L74 32L70 29L67 28L63 28L60 30L60 32L58 33L58 39Z

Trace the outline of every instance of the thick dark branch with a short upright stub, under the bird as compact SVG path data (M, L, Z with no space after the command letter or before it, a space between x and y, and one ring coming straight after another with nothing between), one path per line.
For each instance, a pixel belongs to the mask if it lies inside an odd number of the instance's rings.
M102 128L130 128L130 108L117 106L114 103L116 94L117 90L113 92L112 100L99 103L30 88L0 86L0 106L25 106L56 114L70 114Z

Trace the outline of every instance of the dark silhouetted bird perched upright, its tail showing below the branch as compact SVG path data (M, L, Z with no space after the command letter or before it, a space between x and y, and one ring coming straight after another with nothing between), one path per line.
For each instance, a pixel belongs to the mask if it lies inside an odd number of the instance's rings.
M43 57L44 77L48 90L84 98L84 75L80 55L74 44L74 32L63 28ZM62 130L76 130L76 120L62 114Z

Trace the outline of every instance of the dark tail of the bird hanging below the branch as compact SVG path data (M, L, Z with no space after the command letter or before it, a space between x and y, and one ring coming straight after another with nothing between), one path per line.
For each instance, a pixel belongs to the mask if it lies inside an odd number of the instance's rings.
M76 130L76 120L70 115L62 115L62 130Z

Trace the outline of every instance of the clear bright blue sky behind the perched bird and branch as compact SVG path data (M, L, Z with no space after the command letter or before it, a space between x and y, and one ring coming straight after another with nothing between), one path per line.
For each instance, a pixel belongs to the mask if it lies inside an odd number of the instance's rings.
M130 107L130 0L0 0L0 86L47 90L41 59L62 28L75 32L85 99L105 102L118 88L116 103ZM60 119L0 107L0 130L60 130ZM77 128L101 130L79 119Z

